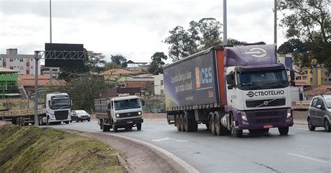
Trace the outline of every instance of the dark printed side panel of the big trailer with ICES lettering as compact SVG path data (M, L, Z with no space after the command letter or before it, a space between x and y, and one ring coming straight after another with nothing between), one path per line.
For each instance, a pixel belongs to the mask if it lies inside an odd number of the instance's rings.
M167 66L163 76L168 110L219 103L214 51Z

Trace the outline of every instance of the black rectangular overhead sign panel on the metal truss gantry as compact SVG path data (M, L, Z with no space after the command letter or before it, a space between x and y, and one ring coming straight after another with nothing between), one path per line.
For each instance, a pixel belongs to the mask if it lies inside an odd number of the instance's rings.
M45 67L79 67L84 65L84 45L45 43Z

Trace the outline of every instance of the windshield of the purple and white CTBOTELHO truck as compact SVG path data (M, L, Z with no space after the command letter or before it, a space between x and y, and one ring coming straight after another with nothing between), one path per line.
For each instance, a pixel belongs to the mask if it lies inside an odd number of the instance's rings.
M237 73L238 89L278 89L288 87L286 70Z

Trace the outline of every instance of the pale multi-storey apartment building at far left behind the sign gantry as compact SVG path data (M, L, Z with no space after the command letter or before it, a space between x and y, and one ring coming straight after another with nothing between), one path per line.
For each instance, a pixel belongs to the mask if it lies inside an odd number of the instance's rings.
M17 49L7 49L6 54L0 54L0 67L17 70L18 75L34 75L35 68L41 73L41 61L36 67L34 54L17 54Z

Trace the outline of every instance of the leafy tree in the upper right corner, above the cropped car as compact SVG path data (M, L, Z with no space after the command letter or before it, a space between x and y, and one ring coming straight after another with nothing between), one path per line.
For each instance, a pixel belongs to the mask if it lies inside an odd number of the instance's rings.
M305 66L310 66L309 59L317 59L318 63L324 63L329 71L331 57L327 52L331 48L330 3L328 0L277 3L278 10L285 12L281 27L286 28L286 37L300 39L307 47L305 55L300 54L302 56L297 58L308 62Z

